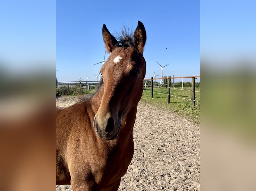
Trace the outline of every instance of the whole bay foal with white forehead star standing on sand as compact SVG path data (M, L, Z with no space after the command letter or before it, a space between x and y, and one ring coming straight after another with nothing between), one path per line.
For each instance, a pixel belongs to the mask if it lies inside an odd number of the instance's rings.
M119 41L102 27L107 53L98 91L64 109L56 109L56 184L73 191L118 190L134 153L133 126L143 91L146 30Z

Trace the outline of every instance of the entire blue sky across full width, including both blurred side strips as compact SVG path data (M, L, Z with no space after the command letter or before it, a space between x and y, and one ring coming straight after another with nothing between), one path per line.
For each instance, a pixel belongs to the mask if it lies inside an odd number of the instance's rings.
M146 78L153 76L153 71L161 74L155 61L171 63L164 68L166 76L199 75L199 53L211 61L206 69L230 70L239 59L255 60L255 7L252 0L201 1L200 5L199 1L188 0L129 4L3 1L0 72L8 69L23 73L50 66L54 73L58 70L56 76L61 81L77 80L79 75L84 80L86 75L92 79L100 68L93 64L101 61L105 52L102 25L105 23L113 33L123 24L135 29L138 20L147 31ZM251 66L255 69L256 65Z

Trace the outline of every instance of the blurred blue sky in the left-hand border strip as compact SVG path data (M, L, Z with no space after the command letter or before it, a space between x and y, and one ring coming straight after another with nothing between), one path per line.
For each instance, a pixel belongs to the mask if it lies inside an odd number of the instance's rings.
M8 71L26 73L55 68L56 3L1 1L0 63Z

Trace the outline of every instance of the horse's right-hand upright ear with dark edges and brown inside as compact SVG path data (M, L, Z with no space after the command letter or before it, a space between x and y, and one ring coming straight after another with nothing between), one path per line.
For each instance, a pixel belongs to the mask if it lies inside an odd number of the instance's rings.
M133 42L141 54L143 53L146 39L145 27L142 22L138 21L138 26L133 34Z

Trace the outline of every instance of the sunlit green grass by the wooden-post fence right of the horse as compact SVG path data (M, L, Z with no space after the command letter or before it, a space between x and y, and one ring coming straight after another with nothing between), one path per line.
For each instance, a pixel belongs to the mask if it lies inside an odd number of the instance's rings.
M175 95L177 97L182 97L186 99L191 99L192 92L186 91L191 90L191 88L182 89L171 89L170 95ZM192 107L192 101L181 99L177 97L170 96L170 103L167 103L167 88L153 88L153 98L151 98L150 88L144 88L141 101L152 104L159 109L164 109L167 111L172 111L178 113L182 116L187 116L187 118L194 122L200 123L200 103L196 102L195 107ZM200 101L200 87L196 87L196 101Z

